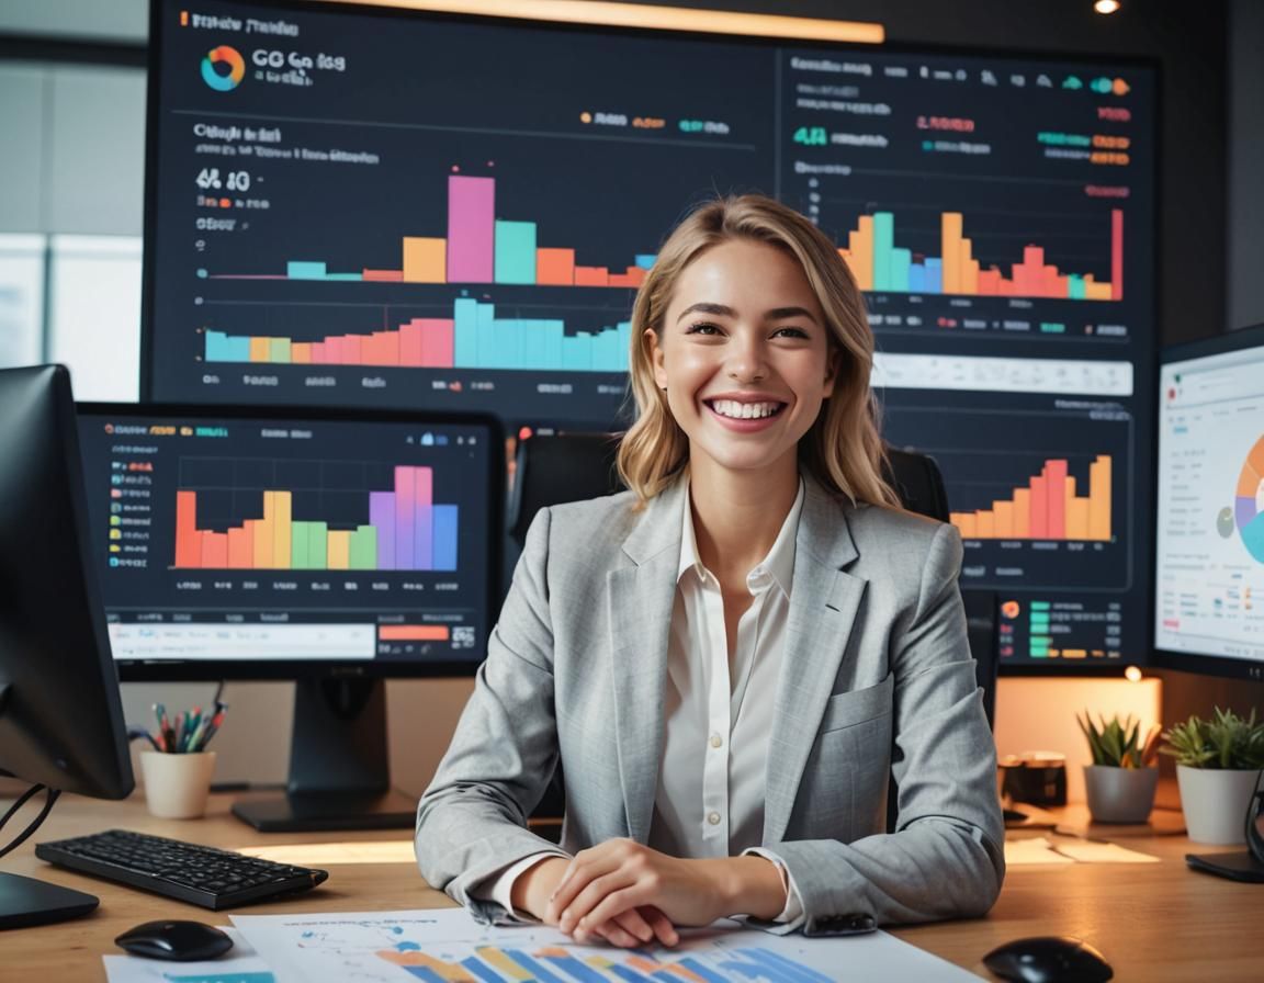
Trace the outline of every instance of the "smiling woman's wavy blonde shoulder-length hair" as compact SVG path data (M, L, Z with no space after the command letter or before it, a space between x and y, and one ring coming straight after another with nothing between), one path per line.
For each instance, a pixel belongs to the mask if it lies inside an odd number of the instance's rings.
M618 470L643 507L689 466L689 440L655 383L647 331L662 339L667 305L684 269L732 240L765 243L803 268L829 326L828 358L837 360L834 392L799 441L800 466L852 502L900 508L882 478L878 407L870 389L873 332L865 299L834 244L815 225L762 195L717 198L695 208L667 238L632 308L631 388L636 422L623 435Z

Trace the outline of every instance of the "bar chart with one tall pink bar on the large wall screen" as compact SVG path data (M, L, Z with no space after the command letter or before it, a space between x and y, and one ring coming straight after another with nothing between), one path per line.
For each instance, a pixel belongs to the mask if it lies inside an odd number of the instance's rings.
M291 259L284 273L207 273L209 279L289 279L364 283L503 283L540 287L629 287L645 280L655 255L642 253L622 270L583 267L575 250L540 246L537 222L495 217L495 178L450 174L447 235L404 235L398 269L335 272L319 259Z

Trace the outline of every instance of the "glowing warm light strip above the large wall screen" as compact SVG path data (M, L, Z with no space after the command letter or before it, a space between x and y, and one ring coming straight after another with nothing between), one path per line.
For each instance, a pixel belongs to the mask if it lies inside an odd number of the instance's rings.
M526 18L566 24L618 28L698 30L712 34L747 34L808 42L881 44L886 29L860 20L823 20L779 14L738 14L727 10L685 10L650 4L588 3L586 0L367 0L372 6L436 10L447 14Z

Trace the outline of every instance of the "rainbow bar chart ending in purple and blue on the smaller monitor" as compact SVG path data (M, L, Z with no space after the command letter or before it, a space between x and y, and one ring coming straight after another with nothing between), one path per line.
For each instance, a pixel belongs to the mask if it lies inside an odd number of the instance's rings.
M263 492L263 514L198 528L197 492L176 493L179 570L456 570L458 505L436 504L430 467L398 465L393 492L369 492L369 522L331 529L293 518L293 493Z

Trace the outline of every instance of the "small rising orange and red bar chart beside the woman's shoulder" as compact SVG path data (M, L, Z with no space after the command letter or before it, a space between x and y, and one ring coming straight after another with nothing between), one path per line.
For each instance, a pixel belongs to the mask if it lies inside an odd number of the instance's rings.
M1088 494L1077 494L1068 462L1053 459L1026 488L1011 498L992 502L988 509L949 516L963 540L1111 540L1111 470L1107 455L1088 465Z

